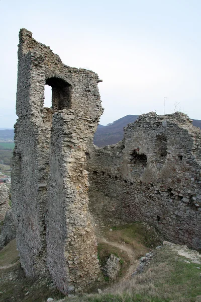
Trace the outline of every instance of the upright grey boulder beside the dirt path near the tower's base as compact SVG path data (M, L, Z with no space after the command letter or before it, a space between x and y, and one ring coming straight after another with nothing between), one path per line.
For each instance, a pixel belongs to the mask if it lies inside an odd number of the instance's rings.
M120 259L116 257L115 255L111 254L105 267L104 267L104 273L107 277L109 277L111 280L115 280L117 278L117 275L120 271Z

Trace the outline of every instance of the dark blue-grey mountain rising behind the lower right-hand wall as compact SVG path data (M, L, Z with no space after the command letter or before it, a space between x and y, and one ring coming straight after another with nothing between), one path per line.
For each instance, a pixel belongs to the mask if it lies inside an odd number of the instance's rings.
M129 123L133 123L139 115L126 115L112 124L107 126L98 125L97 130L94 135L93 142L98 147L104 147L110 144L115 144L122 140L124 137L124 127ZM192 120L193 126L199 127L201 129L200 120Z

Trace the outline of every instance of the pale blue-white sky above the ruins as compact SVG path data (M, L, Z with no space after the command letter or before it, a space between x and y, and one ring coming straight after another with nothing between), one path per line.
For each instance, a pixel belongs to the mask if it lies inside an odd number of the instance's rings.
M201 120L200 14L200 0L0 0L0 128L17 118L23 27L64 64L103 80L100 124L150 111Z

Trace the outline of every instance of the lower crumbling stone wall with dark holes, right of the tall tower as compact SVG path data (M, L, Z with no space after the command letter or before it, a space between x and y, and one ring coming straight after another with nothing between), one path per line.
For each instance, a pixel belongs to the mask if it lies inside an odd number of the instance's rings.
M129 124L118 144L91 145L90 191L110 198L102 215L147 221L169 241L201 249L200 138L186 115L152 112Z

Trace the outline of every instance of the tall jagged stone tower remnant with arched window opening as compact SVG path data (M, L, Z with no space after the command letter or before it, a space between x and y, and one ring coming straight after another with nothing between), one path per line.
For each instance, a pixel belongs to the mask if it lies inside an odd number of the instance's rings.
M83 290L98 272L88 213L85 150L103 112L96 73L66 66L20 31L12 198L21 265L50 272L63 292ZM44 108L45 85L52 107Z

